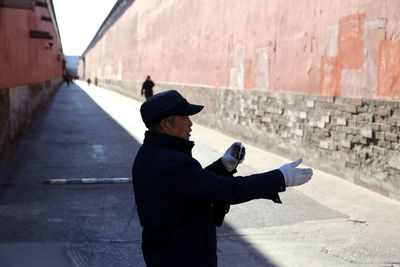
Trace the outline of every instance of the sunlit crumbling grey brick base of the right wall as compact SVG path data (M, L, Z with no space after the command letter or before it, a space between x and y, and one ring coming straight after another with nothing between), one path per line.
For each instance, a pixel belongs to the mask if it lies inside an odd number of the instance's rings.
M144 101L142 82L100 85ZM204 110L193 120L400 200L400 102L157 83Z

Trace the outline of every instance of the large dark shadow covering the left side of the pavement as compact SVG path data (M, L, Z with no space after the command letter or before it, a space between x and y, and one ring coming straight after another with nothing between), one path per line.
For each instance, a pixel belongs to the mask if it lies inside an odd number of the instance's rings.
M81 88L63 84L0 169L2 266L144 266L132 184L41 184L130 177L139 146ZM273 266L238 236L219 242L220 266Z

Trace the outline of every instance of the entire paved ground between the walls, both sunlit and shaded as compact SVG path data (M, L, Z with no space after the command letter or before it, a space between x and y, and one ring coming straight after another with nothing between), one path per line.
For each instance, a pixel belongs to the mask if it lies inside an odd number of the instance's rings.
M0 169L0 266L144 266L131 184L43 183L130 178L145 131L140 104L82 82L60 88ZM235 141L192 128L203 166ZM237 175L293 160L243 143ZM281 199L231 207L219 266L400 266L398 201L316 169Z

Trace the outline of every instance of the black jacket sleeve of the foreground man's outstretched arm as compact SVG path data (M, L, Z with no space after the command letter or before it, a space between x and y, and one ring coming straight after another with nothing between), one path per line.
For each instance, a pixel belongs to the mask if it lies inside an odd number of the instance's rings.
M282 203L279 192L286 190L280 170L249 176L220 176L203 169L195 159L187 158L175 162L174 186L178 195L218 204L239 204L252 199L272 199Z

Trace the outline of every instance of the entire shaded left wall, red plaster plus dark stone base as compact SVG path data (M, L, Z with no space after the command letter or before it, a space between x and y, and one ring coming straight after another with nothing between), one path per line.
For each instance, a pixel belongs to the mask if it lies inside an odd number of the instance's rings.
M46 2L52 8L51 0ZM0 4L0 166L63 82L57 24L41 18L51 17L50 12ZM49 32L52 48L46 49L49 40L30 38L31 30Z

